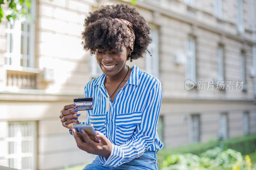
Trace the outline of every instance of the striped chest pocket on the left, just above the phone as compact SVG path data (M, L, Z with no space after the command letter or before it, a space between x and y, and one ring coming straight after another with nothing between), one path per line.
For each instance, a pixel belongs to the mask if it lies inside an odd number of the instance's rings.
M90 115L90 123L93 124L93 127L96 131L100 131L103 134L105 133L106 128L106 114L92 114Z

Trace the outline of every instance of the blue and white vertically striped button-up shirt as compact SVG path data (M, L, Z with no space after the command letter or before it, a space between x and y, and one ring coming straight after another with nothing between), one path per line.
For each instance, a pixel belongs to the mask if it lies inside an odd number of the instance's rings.
M135 65L132 68L130 78L116 93L114 102L110 100L107 113L109 95L106 96L104 89L105 74L89 81L84 88L84 97L93 97L93 110L88 110L85 123L93 124L112 143L108 159L100 156L104 165L119 166L144 151L163 148L156 131L162 101L161 82Z

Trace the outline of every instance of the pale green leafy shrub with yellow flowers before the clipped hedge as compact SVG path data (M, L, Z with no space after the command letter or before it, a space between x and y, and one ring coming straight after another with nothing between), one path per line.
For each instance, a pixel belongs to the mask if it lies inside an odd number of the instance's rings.
M233 149L223 150L219 147L207 150L200 156L191 153L172 154L163 162L162 170L256 170L248 155Z

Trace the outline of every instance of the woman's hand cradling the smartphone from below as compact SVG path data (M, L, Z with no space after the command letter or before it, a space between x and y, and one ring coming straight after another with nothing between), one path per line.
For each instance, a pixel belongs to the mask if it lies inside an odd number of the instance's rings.
M87 153L91 153L94 155L100 155L108 158L110 156L111 150L112 150L112 144L108 138L100 133L99 131L96 131L96 137L100 139L100 142L94 142L87 133L82 130L82 135L84 137L85 142L83 142L77 135L75 129L73 129L74 137L76 139L76 144L79 149L84 150Z

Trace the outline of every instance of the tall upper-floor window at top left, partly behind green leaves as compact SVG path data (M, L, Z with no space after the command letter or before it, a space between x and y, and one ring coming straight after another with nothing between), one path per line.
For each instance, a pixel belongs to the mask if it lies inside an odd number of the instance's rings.
M19 5L19 4L17 4ZM8 22L6 28L5 64L15 67L35 67L35 18L36 1L31 1L29 12L32 21Z

